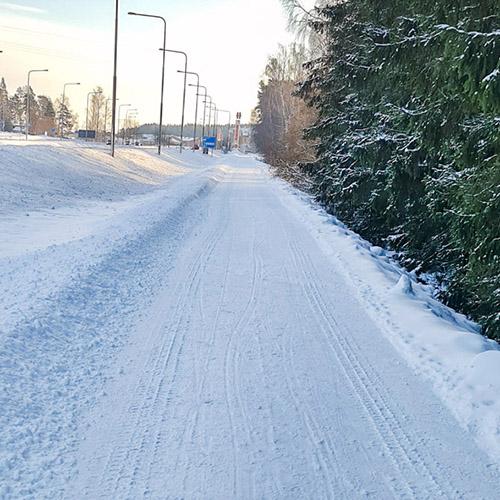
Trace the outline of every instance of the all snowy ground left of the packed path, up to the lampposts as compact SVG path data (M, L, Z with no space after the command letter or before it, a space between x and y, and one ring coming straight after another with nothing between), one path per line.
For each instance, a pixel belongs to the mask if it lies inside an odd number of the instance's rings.
M0 213L0 231L8 228L0 238L0 498L62 491L79 419L163 286L180 235L197 223L186 212L203 209L219 176L216 162L192 152L158 159L124 149L110 162L104 150L39 142L0 141L9 158L0 176L12 194ZM44 196L32 200L37 192Z

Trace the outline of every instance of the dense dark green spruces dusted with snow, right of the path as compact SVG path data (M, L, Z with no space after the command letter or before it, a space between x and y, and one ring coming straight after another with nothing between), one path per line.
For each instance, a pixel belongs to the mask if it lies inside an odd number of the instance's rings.
M500 337L500 34L494 0L345 0L316 9L324 51L300 95L305 167L362 235L433 272Z

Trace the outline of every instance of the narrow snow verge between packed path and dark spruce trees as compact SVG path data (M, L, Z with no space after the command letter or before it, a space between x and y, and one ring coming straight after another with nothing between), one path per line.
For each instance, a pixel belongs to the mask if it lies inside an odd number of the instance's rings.
M281 200L308 227L367 312L490 457L500 463L500 346L432 297L391 258L306 194L275 179Z

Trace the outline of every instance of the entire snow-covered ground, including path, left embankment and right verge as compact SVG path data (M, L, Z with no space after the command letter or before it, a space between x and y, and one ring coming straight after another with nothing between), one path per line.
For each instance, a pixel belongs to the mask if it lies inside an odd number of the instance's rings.
M498 497L498 345L253 157L0 179L0 498Z

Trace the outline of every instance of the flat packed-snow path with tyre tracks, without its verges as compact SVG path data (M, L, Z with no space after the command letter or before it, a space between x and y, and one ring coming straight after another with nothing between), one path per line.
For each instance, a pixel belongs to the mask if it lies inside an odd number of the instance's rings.
M495 498L489 459L253 160L182 216L67 498ZM169 234L164 234L169 238ZM124 279L128 269L123 269Z

